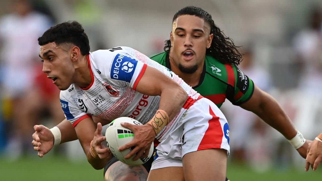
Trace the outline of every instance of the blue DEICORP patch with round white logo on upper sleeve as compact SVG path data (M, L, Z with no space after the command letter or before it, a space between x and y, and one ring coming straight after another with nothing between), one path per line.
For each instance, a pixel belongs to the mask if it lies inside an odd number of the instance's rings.
M130 82L137 66L137 60L117 54L112 62L111 78Z

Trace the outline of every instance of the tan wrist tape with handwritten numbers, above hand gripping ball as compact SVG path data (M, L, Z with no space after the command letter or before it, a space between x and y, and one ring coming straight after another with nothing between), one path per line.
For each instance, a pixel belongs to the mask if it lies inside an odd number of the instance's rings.
M158 135L161 132L161 130L168 124L168 122L168 113L166 113L166 111L164 110L157 110L156 114L149 122L147 122L147 124L151 125L154 131L156 132L156 135Z

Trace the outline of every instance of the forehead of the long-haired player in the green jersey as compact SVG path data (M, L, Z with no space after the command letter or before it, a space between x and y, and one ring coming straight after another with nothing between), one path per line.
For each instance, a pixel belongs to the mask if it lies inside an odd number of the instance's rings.
M202 19L194 15L181 15L173 22L172 28L177 27L184 28L185 30L190 29L209 29L209 25Z

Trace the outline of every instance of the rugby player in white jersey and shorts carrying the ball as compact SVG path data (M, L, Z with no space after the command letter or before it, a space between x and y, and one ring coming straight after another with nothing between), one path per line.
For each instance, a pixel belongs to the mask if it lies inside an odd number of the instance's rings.
M227 120L172 71L129 47L89 52L89 40L77 22L51 27L38 42L43 72L61 90L66 119L95 169L103 168L112 154L102 145L101 123L96 127L91 116L109 121L127 116L144 125L123 125L135 134L119 148L135 147L125 158L146 157L153 140L160 141L148 180L225 179ZM40 138L33 139L39 151ZM60 139L56 135L54 144Z

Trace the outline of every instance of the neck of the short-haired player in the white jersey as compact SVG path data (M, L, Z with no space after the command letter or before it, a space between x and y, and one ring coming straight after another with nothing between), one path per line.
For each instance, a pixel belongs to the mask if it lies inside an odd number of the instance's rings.
M90 65L87 61L87 55L81 56L77 63L75 63L75 76L74 84L87 88L92 83L92 77L90 74Z

